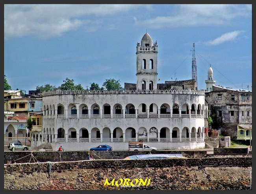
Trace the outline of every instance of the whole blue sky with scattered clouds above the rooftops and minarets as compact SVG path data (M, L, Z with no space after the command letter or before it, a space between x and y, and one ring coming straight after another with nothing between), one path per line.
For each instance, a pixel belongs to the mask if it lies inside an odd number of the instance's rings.
M106 79L136 83L136 44L158 43L158 83L192 78L208 68L215 85L252 90L252 6L249 4L6 4L4 74L12 89L89 88ZM248 87L249 86L249 87Z

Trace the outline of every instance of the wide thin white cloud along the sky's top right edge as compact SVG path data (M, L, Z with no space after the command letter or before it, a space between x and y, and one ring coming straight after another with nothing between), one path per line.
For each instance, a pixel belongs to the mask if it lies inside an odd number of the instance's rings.
M169 16L156 16L137 22L137 25L152 26L152 28L223 25L236 17L251 15L250 9L247 5L230 4L177 5Z

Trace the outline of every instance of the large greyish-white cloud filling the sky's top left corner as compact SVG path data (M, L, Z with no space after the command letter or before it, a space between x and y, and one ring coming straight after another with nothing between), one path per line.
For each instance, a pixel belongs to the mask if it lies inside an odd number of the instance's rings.
M4 35L6 39L28 35L48 38L77 30L81 26L86 26L88 31L94 31L99 22L95 23L90 17L124 13L136 7L138 5L6 4Z

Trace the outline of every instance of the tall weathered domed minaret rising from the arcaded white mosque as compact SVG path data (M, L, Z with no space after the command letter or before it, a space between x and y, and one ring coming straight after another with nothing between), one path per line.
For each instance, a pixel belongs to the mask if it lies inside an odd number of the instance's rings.
M137 42L137 90L156 90L157 89L157 42L152 41L146 32L141 39L141 44Z

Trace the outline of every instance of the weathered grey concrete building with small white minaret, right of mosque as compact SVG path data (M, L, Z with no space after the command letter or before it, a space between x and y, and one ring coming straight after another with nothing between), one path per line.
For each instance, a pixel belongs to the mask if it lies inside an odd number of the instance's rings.
M205 81L205 100L210 111L209 116L214 117L213 128L219 129L221 134L232 139L240 136L237 131L241 128L248 134L252 128L252 91L214 85L215 80L212 78L213 70L210 67L208 80Z

